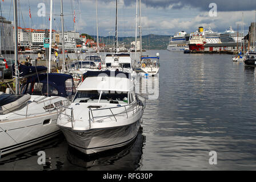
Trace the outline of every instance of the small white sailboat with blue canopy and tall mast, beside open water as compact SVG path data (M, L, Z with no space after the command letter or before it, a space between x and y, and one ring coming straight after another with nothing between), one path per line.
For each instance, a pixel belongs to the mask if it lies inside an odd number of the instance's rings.
M137 4L138 4L138 0L137 0ZM136 7L138 7L138 5ZM136 17L137 17L137 13L136 13ZM137 18L136 18L136 26L137 26ZM140 57L139 57L138 63L137 61L134 61L134 70L136 73L142 72L142 73L146 73L147 75L154 76L159 72L159 68L160 68L159 53L157 53L156 56L142 56L141 0L139 0L139 30L140 30L140 44L141 44L139 46ZM136 35L136 38L137 38L137 35ZM135 59L136 59L136 52L135 52Z

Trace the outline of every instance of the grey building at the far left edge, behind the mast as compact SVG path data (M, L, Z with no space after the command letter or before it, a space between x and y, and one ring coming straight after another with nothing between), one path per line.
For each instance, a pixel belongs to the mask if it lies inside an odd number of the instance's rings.
M0 53L14 52L13 25L0 16Z

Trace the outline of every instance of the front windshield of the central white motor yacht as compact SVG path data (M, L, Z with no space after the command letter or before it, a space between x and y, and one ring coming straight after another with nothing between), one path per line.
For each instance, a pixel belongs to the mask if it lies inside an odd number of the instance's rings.
M127 92L117 91L78 90L73 102L127 104L128 94Z

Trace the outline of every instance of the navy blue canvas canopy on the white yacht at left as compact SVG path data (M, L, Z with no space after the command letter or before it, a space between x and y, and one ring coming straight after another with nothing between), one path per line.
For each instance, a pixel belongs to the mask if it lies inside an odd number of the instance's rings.
M49 84L49 96L67 97L75 93L73 76L62 73L47 73L27 78L26 84L21 87L22 94L47 95L47 83Z

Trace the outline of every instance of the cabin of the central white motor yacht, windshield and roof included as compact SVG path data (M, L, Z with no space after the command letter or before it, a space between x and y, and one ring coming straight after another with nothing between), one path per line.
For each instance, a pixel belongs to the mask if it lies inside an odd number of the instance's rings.
M77 89L74 103L128 105L135 100L130 73L119 71L88 71Z

